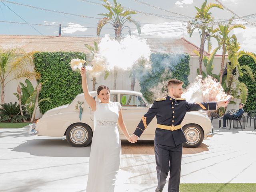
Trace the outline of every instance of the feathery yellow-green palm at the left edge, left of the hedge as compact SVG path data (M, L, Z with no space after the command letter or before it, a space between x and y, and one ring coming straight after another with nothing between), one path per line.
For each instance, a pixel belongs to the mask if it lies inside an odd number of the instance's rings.
M19 48L0 49L0 86L1 103L4 104L4 88L6 84L19 78L40 78L39 72L34 69L34 52L26 53ZM32 68L32 69L31 69ZM7 81L7 77L11 76Z

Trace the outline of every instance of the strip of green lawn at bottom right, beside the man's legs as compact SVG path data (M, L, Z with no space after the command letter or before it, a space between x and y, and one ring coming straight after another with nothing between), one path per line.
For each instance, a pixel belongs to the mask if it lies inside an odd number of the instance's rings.
M256 183L180 184L180 192L256 192Z

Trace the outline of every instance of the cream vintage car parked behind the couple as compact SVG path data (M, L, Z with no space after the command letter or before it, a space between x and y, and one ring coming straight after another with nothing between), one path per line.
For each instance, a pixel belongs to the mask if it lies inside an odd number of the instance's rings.
M96 91L90 92L96 98ZM122 114L128 132L132 134L148 111L150 104L142 96L142 93L126 90L110 90L110 100L122 104ZM84 102L80 120L80 111L76 110L78 102ZM156 117L148 125L140 140L154 140L156 129ZM204 138L212 136L212 123L205 112L188 112L182 121L182 130L186 136L185 147L197 147ZM85 147L92 141L94 132L93 112L86 104L84 94L79 94L67 105L48 110L38 120L34 127L31 126L29 133L40 136L62 137L74 147ZM120 138L125 139L120 131Z

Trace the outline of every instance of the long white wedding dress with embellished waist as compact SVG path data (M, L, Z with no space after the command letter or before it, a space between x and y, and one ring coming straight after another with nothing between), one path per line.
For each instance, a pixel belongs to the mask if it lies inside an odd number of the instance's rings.
M121 141L116 123L120 109L118 102L96 102L86 192L114 192L121 161Z

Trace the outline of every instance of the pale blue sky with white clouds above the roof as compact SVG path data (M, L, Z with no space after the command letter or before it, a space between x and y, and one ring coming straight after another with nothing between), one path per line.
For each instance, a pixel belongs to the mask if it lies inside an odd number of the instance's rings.
M15 2L15 4L11 2ZM109 0L109 2L113 4L112 0ZM186 31L186 24L188 20L196 15L195 6L201 7L204 0L118 0L118 2L126 8L137 11L137 14L132 15L132 18L140 22L142 38L184 37L200 46L199 33L195 30L190 37ZM222 3L225 9L212 8L210 10L215 22L222 22L236 16L238 18L236 20L237 24L246 23L245 30L234 29L232 33L238 37L241 50L256 53L256 1L218 0L218 2ZM97 22L99 18L103 18L98 14L107 13L107 10L100 5L102 3L102 0L0 0L0 34L58 36L58 26L62 24L62 36L95 37L97 36ZM216 0L208 0L207 3L217 2ZM78 16L74 16L74 14ZM241 19L241 17L250 14L255 15ZM133 24L128 23L127 26L131 28L132 34L138 36ZM106 24L101 31L101 36L105 34L114 35L114 30L110 24ZM128 28L125 28L122 34L128 34ZM216 40L212 39L212 44L213 48L217 47ZM221 50L217 54L221 54Z

